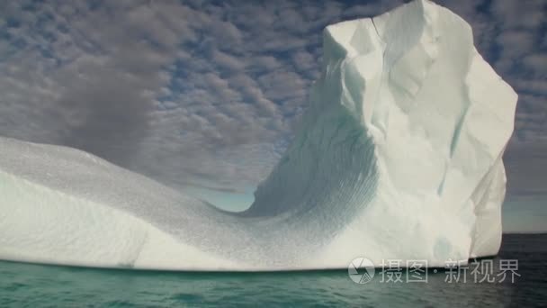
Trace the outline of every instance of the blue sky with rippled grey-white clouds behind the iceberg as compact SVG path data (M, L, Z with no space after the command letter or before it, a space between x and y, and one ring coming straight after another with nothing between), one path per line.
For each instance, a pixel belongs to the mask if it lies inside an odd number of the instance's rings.
M306 110L323 28L402 3L2 1L0 135L84 149L213 203L248 205ZM519 95L508 199L547 195L547 1L435 3L471 24ZM547 229L545 205L528 216Z

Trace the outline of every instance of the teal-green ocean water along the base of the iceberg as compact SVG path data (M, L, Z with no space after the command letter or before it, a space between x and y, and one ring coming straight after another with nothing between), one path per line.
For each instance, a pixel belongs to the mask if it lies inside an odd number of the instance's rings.
M518 260L517 268L515 261L508 260ZM547 307L547 234L505 234L498 257L482 259L475 266L458 270L460 276L444 268L430 269L421 276L426 282L407 282L404 269L399 276L377 269L372 281L357 284L347 269L189 273L0 261L0 307ZM510 271L500 282L507 267L516 268L519 276L514 282ZM402 282L393 282L398 278Z

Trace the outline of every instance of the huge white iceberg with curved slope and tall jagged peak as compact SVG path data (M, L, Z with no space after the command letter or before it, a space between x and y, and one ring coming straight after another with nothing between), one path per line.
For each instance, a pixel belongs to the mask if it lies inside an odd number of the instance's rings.
M495 255L517 95L426 0L324 32L291 146L243 213L76 149L0 139L0 258L280 270Z

